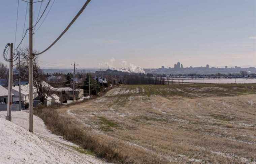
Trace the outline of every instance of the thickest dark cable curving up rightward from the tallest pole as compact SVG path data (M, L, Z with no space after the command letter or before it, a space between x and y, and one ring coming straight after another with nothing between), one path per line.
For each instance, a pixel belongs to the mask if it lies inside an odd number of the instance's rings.
M69 23L69 25L66 27L66 29L60 34L60 36L49 46L47 47L44 51L37 53L35 55L40 55L49 50L55 43L57 43L58 40L68 31L68 29L72 26L72 24L76 21L76 19L82 14L82 12L85 10L86 6L90 3L91 0L87 0L83 7L79 10L79 12L75 15L73 20Z

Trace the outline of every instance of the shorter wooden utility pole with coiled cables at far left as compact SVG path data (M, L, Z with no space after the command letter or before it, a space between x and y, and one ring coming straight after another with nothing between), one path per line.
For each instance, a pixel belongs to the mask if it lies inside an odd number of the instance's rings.
M10 46L10 63L9 63L9 80L8 80L8 104L7 104L7 116L6 120L11 121L11 104L12 104L12 67L13 67L13 43L9 44Z

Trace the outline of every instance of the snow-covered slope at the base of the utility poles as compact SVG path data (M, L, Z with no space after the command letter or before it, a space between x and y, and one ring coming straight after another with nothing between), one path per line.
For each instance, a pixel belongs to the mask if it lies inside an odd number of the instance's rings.
M106 163L88 154L79 153L75 144L54 135L43 121L34 116L34 133L28 132L28 113L12 111L12 122L0 112L1 164L73 164Z

